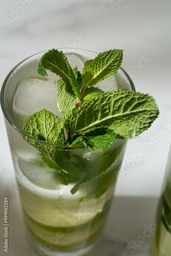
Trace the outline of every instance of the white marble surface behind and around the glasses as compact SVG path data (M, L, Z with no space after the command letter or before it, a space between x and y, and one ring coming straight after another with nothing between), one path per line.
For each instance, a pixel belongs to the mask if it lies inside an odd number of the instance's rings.
M158 197L171 137L171 2L169 0L8 0L1 1L0 7L0 84L19 61L43 50L71 47L71 45L95 52L114 48L124 50L122 68L130 74L137 91L154 96L160 116L148 131L137 139L129 141L117 183L116 196L135 199L143 197L147 201L150 197ZM145 61L142 60L144 58ZM139 155L140 148L144 149L143 156ZM11 237L8 255L30 255L23 238L23 220L20 215L18 195L12 197L10 186L15 186L14 169L3 114L0 110L0 207L1 209L3 207L3 198L9 196ZM144 206L140 220L146 218L145 223L151 221L154 207L150 212ZM135 212L136 210L137 208ZM2 212L0 218L2 221ZM131 205L124 218L127 218L129 223L132 218ZM114 223L112 218L111 223L112 225ZM136 224L132 223L132 226L134 229ZM19 232L17 236L15 236L16 227ZM2 229L1 225L1 243ZM125 225L125 229L127 237L124 241L129 243L133 239L133 230L129 225ZM138 232L137 236L142 230L143 227L135 231ZM124 233L125 231L120 229L119 236L124 237ZM121 255L124 247L120 247L119 243L117 245L114 249L118 254L115 255ZM109 255L114 255L113 249L108 252ZM131 252L128 255L131 255ZM143 255L143 252L139 255Z

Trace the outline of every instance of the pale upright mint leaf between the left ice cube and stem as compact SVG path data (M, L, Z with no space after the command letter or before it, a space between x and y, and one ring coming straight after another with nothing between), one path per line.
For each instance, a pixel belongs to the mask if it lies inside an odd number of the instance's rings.
M76 109L77 105L75 95L71 93L67 84L62 79L57 81L57 105L65 119Z

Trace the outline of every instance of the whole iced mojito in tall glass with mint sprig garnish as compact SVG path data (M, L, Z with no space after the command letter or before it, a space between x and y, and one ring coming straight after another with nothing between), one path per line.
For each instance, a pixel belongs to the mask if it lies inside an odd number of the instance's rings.
M122 51L96 56L74 49L39 53L3 84L20 199L39 255L93 255L126 140L158 115L154 99L136 93L119 68Z

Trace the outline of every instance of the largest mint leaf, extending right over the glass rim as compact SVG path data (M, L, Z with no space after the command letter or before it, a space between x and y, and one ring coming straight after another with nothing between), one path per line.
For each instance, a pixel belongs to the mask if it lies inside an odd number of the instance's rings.
M102 94L73 111L65 128L74 134L96 126L109 126L119 138L130 138L148 129L159 114L153 97L130 91Z

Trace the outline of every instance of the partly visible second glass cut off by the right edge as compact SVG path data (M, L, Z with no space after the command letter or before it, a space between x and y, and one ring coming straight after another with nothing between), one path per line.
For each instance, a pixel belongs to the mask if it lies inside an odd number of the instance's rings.
M150 245L151 256L171 255L171 146L168 154L162 193L155 220L156 231Z

